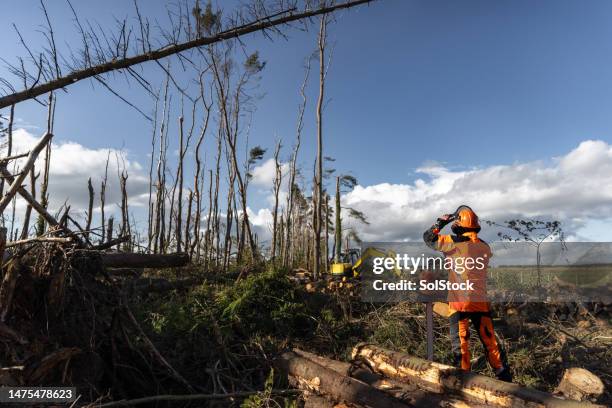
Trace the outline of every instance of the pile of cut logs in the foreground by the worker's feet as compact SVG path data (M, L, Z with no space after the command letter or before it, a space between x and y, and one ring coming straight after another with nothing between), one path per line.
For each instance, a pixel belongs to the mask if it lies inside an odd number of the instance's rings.
M294 349L276 366L310 407L599 407L371 344L357 345L352 357L346 363Z

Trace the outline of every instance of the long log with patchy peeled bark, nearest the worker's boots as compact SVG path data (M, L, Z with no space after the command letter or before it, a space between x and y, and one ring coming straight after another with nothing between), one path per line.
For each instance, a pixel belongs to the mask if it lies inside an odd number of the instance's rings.
M352 356L355 360L365 362L373 371L389 378L418 384L438 393L458 395L472 402L500 407L596 407L589 403L563 400L552 394L518 384L474 373L464 373L455 367L372 344L355 346Z

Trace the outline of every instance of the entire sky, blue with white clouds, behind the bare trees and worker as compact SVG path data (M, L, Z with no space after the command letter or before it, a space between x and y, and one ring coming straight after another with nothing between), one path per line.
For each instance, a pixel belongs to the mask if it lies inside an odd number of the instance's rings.
M76 41L66 5L48 6L58 42ZM75 7L102 25L133 13L124 1ZM141 4L159 21L171 7ZM43 18L38 2L27 0L5 9L0 22L15 23L36 48ZM382 0L339 14L330 28L325 155L336 159L337 173L360 182L343 202L368 217L370 225L357 226L362 238L418 239L438 215L469 204L486 219L559 219L572 239L611 240L611 18L612 3L587 7L577 0ZM262 234L270 220L271 151L280 138L281 157L289 157L302 67L315 34L289 30L286 40L245 39L267 62L249 133L251 146L268 148L250 187L252 220ZM14 32L0 38L0 47L11 61L24 54ZM154 66L143 73L152 83L162 78ZM181 75L177 70L188 84L191 76ZM8 76L4 67L0 76ZM120 76L111 83L144 110L153 109L138 87ZM316 85L307 88L305 179L314 159ZM42 134L46 111L29 102L18 105L16 117L16 145L26 149ZM107 158L111 183L118 166L127 168L134 208L146 203L151 124L140 114L83 82L58 94L55 124L56 205L68 200L83 208L87 178L99 185ZM206 146L210 159L212 137ZM115 189L109 188L110 202L117 200Z

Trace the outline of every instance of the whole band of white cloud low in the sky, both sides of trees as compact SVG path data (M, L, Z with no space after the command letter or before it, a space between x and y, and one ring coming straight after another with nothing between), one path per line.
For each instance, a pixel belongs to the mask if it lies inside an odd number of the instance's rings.
M13 154L28 151L39 139L25 129L14 132ZM42 156L37 169L42 169ZM149 180L143 166L130 160L126 152L115 149L91 149L70 141L54 141L52 149L50 208L64 202L72 211L87 207L87 179L92 178L99 206L100 182L107 158L107 207L116 210L120 202L117 166L128 171L128 194L132 209L146 206ZM286 200L288 164L283 163L280 204ZM253 169L252 183L267 195L268 208L253 212L249 219L259 242L270 239L275 177L274 160L268 159ZM472 206L483 219L502 221L514 217L557 219L572 239L602 239L607 220L607 239L612 240L612 146L588 140L568 154L547 161L496 165L469 170L451 170L435 163L417 169L421 178L412 183L381 183L357 186L343 195L342 205L365 213L370 225L353 223L360 236L369 241L418 240L422 231L437 216L453 211L461 204ZM26 179L28 181L28 179ZM19 209L23 208L20 204ZM345 217L346 218L346 217ZM595 231L597 226L597 231ZM490 229L485 227L485 230ZM602 235L603 234L603 235ZM485 235L490 239L490 235Z

